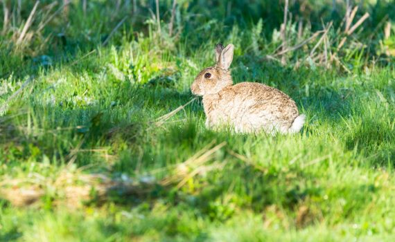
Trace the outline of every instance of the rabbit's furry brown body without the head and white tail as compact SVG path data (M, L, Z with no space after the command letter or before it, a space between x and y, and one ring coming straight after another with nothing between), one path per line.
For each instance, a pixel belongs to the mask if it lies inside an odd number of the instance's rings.
M285 93L264 84L242 82L204 97L207 124L229 123L236 131L274 130L286 133L299 115L297 105Z

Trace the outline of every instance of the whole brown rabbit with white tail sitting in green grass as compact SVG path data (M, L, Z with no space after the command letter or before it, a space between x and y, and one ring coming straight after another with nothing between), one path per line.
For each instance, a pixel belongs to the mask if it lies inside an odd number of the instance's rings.
M297 133L306 115L285 93L254 82L233 84L229 66L234 45L216 46L216 65L199 73L191 86L194 95L203 96L206 127L230 124L238 133Z

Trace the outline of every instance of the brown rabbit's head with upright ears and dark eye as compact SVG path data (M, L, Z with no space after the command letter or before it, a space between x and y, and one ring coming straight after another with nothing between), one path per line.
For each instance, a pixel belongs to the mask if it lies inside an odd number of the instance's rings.
M216 45L216 65L204 68L193 81L191 91L193 95L215 94L226 86L233 84L229 66L233 59L234 45L224 48L222 44Z

